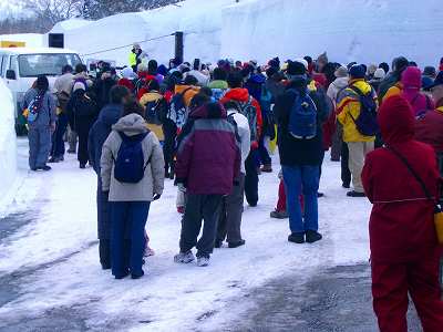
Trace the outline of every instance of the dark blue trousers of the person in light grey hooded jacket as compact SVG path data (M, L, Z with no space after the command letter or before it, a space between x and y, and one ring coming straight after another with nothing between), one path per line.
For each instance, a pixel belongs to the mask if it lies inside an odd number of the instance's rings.
M145 225L150 212L148 201L111 203L111 261L112 273L121 277L131 269L134 276L142 276L143 253L145 250ZM125 234L131 235L128 263L125 260Z

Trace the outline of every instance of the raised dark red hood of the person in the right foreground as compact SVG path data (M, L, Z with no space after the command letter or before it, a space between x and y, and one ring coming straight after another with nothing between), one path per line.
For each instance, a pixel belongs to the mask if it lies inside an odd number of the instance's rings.
M410 103L400 95L388 98L380 107L378 121L383 141L404 143L414 137L414 116Z

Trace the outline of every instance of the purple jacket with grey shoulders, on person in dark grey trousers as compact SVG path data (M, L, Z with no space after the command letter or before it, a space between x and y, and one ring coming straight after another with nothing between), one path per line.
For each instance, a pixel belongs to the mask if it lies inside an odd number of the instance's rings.
M177 152L177 183L194 195L228 195L239 176L241 156L225 108L209 103L189 118Z

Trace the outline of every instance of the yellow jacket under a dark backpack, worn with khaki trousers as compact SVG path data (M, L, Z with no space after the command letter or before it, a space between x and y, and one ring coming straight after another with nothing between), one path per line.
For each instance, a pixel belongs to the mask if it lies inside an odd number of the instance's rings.
M349 83L363 94L372 93L377 103L377 94L374 90L364 80L353 80ZM358 94L350 87L347 87L339 93L337 100L337 120L343 125L343 141L344 142L373 142L375 136L363 136L357 129L356 123L352 120L360 116L361 104ZM352 117L351 117L352 115Z

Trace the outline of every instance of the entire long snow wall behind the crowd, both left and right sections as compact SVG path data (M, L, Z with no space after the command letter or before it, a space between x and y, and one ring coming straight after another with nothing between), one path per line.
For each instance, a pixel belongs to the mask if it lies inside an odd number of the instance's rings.
M187 0L141 13L95 22L70 20L52 32L65 33L66 48L84 56L127 63L130 44L175 31L185 32L185 59L220 56L265 62L328 51L348 63L390 62L404 54L420 65L443 56L441 0ZM151 58L174 56L174 38L141 43Z

